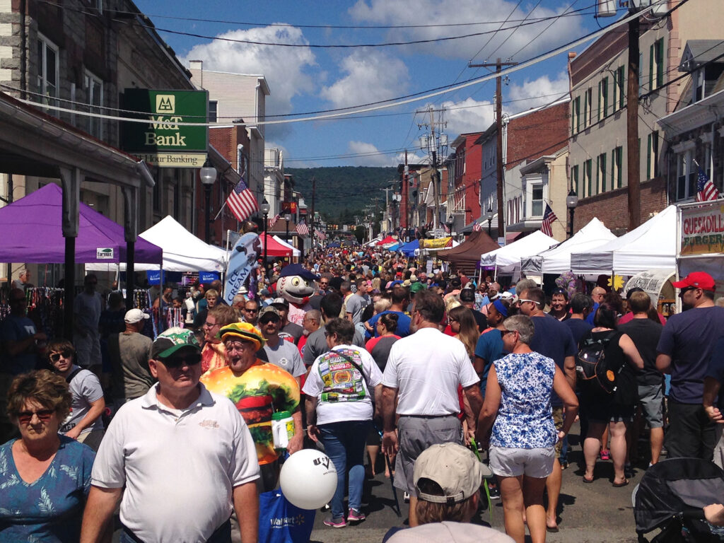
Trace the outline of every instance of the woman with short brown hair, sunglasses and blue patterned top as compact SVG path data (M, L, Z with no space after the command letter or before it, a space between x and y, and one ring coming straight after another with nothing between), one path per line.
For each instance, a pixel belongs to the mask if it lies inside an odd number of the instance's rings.
M71 403L65 379L45 369L10 385L20 439L0 446L0 541L79 541L96 453L59 434Z

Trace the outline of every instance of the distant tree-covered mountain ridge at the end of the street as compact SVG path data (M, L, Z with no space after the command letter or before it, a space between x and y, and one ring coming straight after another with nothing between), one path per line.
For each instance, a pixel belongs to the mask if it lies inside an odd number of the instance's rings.
M316 177L315 211L327 222L352 222L365 206L384 209L384 190L397 181L395 167L337 166L322 168L285 168L294 176L294 188L302 193L311 213L312 177ZM390 191L390 197L392 191Z

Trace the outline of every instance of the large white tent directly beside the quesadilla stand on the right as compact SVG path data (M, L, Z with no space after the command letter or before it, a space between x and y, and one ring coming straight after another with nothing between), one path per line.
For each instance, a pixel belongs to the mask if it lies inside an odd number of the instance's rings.
M676 269L676 206L594 251L571 254L576 274L636 275L654 269Z

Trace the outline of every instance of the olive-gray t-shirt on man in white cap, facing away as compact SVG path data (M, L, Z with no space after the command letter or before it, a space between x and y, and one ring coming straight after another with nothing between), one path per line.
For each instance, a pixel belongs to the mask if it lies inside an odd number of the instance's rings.
M151 345L153 345L151 338L136 332L113 334L109 337L108 350L113 364L114 398L132 400L143 396L156 381L148 369Z

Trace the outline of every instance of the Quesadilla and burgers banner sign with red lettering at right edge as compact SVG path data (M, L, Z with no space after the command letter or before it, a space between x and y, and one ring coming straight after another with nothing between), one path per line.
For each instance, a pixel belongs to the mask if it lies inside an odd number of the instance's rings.
M682 208L680 254L710 253L724 253L724 205L702 203Z

